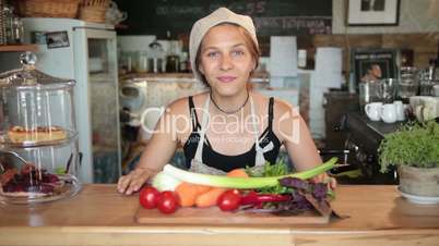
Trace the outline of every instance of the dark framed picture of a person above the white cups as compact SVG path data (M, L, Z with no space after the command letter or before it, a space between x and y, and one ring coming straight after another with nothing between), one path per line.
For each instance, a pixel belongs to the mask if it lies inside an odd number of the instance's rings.
M394 49L354 49L351 53L351 67L355 82L379 81L396 77L396 56Z

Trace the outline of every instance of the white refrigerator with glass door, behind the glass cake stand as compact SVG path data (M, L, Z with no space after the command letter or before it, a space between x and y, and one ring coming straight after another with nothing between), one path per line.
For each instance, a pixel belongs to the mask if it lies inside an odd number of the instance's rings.
M74 19L25 17L25 41L38 46L37 69L74 78L81 183L116 183L121 174L117 40L112 25ZM62 32L60 32L62 30ZM59 37L50 48L35 33Z

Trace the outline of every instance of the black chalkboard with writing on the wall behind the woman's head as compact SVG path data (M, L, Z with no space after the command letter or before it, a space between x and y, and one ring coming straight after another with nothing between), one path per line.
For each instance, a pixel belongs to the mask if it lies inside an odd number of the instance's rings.
M129 26L121 35L173 36L190 32L193 23L226 7L250 15L258 36L331 34L332 0L118 0Z

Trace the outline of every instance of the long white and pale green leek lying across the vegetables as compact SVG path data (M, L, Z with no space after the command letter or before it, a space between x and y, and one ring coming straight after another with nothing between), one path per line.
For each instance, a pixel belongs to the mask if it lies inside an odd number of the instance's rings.
M268 176L268 177L229 177L229 176L218 176L218 175L210 175L210 174L202 174L202 173L193 173L188 172L178 168L175 168L170 164L165 165L164 170L158 173L161 174L157 176L155 182L153 182L153 186L156 185L164 185L166 183L167 175L173 176L174 179L180 182L187 182L191 184L199 184L199 185L209 185L213 187L223 187L223 188L263 188L263 187L272 187L278 185L278 180L283 177L297 177L300 180L307 180L319 175L332 168L335 167L337 158L331 158L329 161L320 164L313 169L306 170L298 173L292 173L281 176ZM157 175L158 175L157 174ZM162 180L163 179L163 180ZM154 184L155 183L155 184ZM170 188L169 188L170 189ZM173 189L170 189L173 190Z

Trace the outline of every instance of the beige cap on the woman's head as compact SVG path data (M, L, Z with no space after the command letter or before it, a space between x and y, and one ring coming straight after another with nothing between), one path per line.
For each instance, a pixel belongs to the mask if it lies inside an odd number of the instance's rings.
M222 23L233 23L242 26L247 32L249 32L251 38L258 47L258 39L256 36L253 21L248 15L236 14L230 10L222 7L212 12L210 15L198 20L195 24L193 24L190 32L189 57L193 75L199 81L201 81L202 75L198 71L198 67L195 67L195 58L198 49L200 48L201 40L210 28Z

